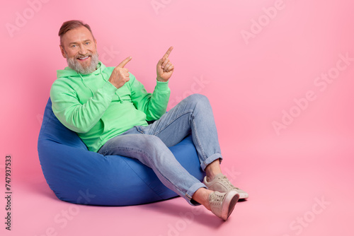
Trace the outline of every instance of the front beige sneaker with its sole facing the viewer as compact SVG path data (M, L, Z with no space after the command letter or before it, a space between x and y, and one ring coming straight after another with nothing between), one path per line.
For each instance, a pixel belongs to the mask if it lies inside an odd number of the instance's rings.
M227 193L214 191L209 194L209 204L212 213L223 220L229 218L238 200L239 194L233 190Z

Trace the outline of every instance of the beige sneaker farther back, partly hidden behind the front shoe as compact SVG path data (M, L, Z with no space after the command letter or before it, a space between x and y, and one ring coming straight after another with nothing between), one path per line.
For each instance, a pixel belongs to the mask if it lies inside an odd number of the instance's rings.
M214 179L212 179L212 181L210 182L207 182L207 177L205 176L203 183L205 184L205 186L207 186L207 189L210 189L212 191L226 193L228 191L234 190L239 193L240 199L246 199L249 197L249 194L247 194L246 191L234 187L234 185L232 185L229 179L227 179L226 176L222 175L222 173L215 175Z

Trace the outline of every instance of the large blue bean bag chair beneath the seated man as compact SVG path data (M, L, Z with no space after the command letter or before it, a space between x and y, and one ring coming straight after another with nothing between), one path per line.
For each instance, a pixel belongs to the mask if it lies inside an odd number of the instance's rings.
M170 149L191 175L202 180L205 174L191 136ZM50 99L38 137L38 155L47 184L62 201L129 206L178 196L138 160L88 151L79 136L55 117Z

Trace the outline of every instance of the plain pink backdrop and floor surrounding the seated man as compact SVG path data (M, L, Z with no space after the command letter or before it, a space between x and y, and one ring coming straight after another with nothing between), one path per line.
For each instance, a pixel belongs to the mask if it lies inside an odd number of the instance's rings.
M353 7L304 0L6 1L0 189L4 194L11 155L13 225L4 229L1 194L1 235L351 235L354 60L346 64L339 55L354 58ZM98 207L55 197L40 169L37 138L56 70L67 65L57 32L72 19L91 25L107 66L132 56L127 68L149 92L157 61L174 47L169 108L190 93L207 95L222 168L250 194L226 223L181 198ZM333 82L318 81L322 73ZM315 99L304 102L308 91ZM273 123L286 119L283 112L292 118L277 133Z

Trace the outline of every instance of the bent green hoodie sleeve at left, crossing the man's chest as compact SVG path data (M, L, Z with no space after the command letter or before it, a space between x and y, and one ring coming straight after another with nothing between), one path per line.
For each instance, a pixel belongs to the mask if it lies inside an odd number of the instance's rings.
M81 104L75 90L61 80L50 89L52 110L64 126L76 133L86 133L95 126L107 110L117 88L106 82L93 97Z

